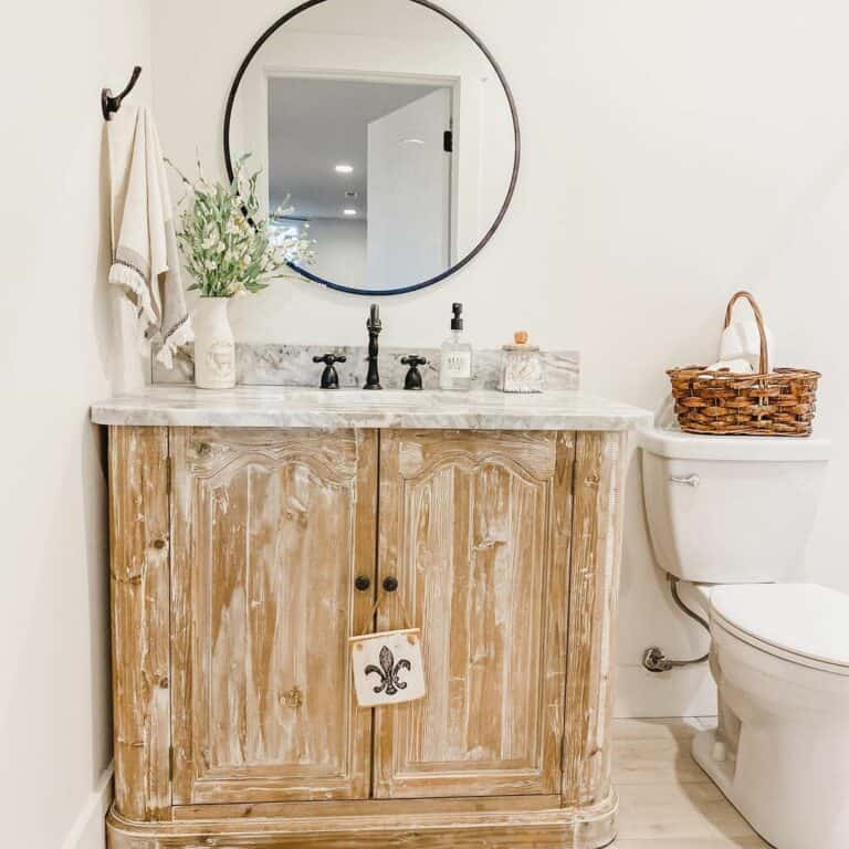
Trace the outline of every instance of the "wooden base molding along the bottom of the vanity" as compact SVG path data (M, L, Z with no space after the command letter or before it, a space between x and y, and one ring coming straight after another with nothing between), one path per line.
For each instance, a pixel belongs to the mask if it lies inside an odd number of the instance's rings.
M601 849L616 837L618 799L594 807L546 810L368 813L328 818L241 817L171 822L133 822L113 808L106 820L108 849Z

